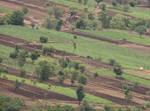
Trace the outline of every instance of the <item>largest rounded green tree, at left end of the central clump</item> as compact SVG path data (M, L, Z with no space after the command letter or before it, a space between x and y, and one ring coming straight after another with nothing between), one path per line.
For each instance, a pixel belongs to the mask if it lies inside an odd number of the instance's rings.
M36 74L39 80L46 81L54 75L55 66L47 61L40 61L36 66Z

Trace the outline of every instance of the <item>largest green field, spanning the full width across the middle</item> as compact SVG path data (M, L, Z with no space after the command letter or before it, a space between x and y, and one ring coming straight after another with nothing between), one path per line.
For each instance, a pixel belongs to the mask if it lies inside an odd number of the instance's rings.
M54 47L59 50L75 53L81 56L91 56L93 58L100 58L104 62L110 59L115 59L122 66L129 68L150 68L150 59L148 53L141 53L133 49L120 47L107 42L93 40L89 38L78 37L76 41L77 49L74 51L72 42L73 35L57 32L54 30L39 29L34 30L27 27L19 26L0 26L0 33L11 36L23 38L28 41L38 41L40 36L46 36L49 41L55 43L47 43L45 46ZM66 44L69 42L69 44Z

